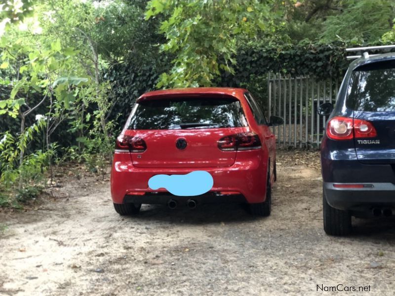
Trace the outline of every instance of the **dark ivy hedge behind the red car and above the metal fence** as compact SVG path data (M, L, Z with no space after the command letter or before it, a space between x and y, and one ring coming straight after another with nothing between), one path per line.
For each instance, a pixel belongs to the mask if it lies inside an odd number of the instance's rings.
M117 119L120 126L124 124L135 100L143 93L156 89L159 75L171 68L170 61L171 58L162 53L143 67L134 67L131 62L125 61L104 74L113 83L111 96L115 106L112 116L121 114ZM222 71L213 81L213 86L248 88L263 103L269 73L340 79L349 63L345 44L341 42L299 46L246 45L237 52L235 74Z

